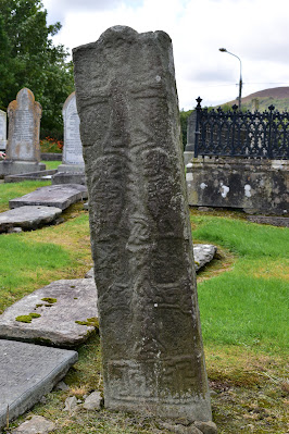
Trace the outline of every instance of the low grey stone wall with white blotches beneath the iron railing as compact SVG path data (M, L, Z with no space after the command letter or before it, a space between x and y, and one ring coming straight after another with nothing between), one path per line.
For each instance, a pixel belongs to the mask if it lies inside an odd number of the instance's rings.
M189 204L287 214L288 168L287 160L192 159L186 174Z

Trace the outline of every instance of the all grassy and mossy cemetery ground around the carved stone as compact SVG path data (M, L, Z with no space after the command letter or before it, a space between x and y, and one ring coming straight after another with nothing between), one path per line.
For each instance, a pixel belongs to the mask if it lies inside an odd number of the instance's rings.
M0 211L8 201L47 185L0 184ZM64 221L34 232L0 235L0 313L52 281L80 278L91 268L88 212L71 206ZM211 243L217 258L198 274L198 296L213 420L218 433L285 434L289 383L289 231L246 221L240 212L191 210L196 243ZM122 327L122 324L120 324ZM32 414L56 423L56 433L168 433L149 417L63 411L65 399L102 388L99 336L78 347L79 360L64 379L68 390L53 390L8 430Z

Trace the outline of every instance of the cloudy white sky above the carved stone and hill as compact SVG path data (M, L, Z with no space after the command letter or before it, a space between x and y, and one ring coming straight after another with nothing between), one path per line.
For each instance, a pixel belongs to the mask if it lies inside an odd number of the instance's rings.
M289 86L288 0L42 0L48 22L60 21L54 44L70 50L96 41L109 27L164 30L173 40L179 108L216 106Z

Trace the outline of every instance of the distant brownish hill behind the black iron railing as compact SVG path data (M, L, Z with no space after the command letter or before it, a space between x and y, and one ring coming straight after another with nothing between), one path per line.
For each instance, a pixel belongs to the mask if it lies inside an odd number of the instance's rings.
M273 87L272 89L264 89L257 92L248 95L248 97L242 98L242 107L248 110L252 110L254 101L257 100L259 111L263 112L267 110L269 106L274 106L278 111L289 111L289 87ZM238 100L226 102L222 106L238 106Z

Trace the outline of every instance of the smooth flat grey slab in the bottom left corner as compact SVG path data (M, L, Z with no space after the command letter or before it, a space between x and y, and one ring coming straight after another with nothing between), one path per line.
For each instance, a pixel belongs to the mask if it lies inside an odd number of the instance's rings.
M77 361L76 351L0 339L0 429L52 390Z

